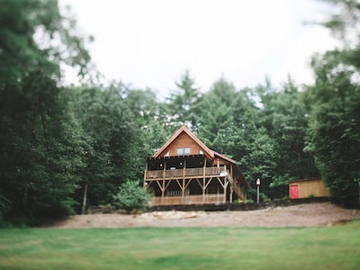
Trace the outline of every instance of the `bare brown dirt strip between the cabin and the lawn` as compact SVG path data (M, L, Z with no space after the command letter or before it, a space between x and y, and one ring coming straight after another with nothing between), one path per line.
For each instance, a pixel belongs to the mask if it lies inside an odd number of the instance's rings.
M151 211L137 215L76 215L51 228L316 227L332 226L357 218L360 218L360 211L321 202L256 211Z

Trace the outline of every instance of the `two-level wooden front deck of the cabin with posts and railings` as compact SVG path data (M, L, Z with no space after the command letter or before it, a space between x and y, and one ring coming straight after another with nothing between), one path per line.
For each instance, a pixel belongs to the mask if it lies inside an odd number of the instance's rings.
M152 205L220 204L232 202L233 192L245 201L227 166L148 170L144 188L155 190Z

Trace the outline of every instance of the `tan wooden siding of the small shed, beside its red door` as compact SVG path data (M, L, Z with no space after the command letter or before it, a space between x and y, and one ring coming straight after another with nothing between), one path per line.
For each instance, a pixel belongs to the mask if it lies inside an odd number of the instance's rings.
M299 186L299 199L315 197L328 197L329 190L321 179L301 179L290 181L289 193L292 185Z

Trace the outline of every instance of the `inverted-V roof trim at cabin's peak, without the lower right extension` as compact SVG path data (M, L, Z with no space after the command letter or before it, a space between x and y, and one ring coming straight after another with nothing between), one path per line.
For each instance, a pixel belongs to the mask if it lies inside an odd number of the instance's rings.
M202 150L203 155L208 158L214 157L214 151L208 148L200 139L198 139L192 131L187 129L185 126L182 126L179 130L176 130L173 136L166 141L166 143L157 150L157 152L152 157L164 157L172 144L176 142L176 139L179 139L182 136L187 136L193 144L197 145L199 149Z

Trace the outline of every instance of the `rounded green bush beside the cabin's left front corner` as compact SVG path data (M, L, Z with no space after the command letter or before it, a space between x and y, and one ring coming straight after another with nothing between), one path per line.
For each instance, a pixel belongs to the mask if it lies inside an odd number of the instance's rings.
M115 204L128 213L148 208L151 195L139 186L139 181L127 181L120 185L119 192L112 196Z

